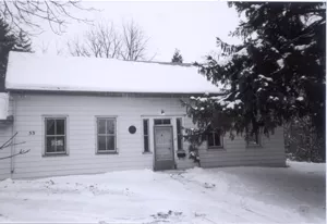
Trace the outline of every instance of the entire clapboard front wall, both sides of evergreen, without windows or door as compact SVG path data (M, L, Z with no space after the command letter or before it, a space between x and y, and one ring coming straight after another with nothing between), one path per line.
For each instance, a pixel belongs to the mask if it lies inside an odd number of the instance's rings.
M173 145L177 149L175 119L183 117L183 126L192 127L191 119L185 116L185 108L179 98L172 97L105 97L73 95L13 95L11 113L14 124L0 126L0 142L12 133L19 132L15 142L26 141L13 148L31 149L24 155L0 163L0 179L34 178L55 175L93 174L119 170L153 169L153 153L143 153L143 119L149 120L150 151L154 152L154 119L171 119L173 124ZM161 115L161 110L165 115ZM13 111L13 112L12 112ZM44 157L45 115L66 115L68 155ZM96 154L96 116L117 116L117 154ZM129 133L130 125L136 127L135 134ZM31 135L31 132L34 133ZM282 132L263 139L262 148L246 148L242 137L223 139L223 150L208 150L206 144L199 150L201 166L226 165L271 165L284 166L284 146ZM196 165L187 159L178 159L178 169ZM0 151L1 155L10 153ZM13 173L11 174L11 170Z

